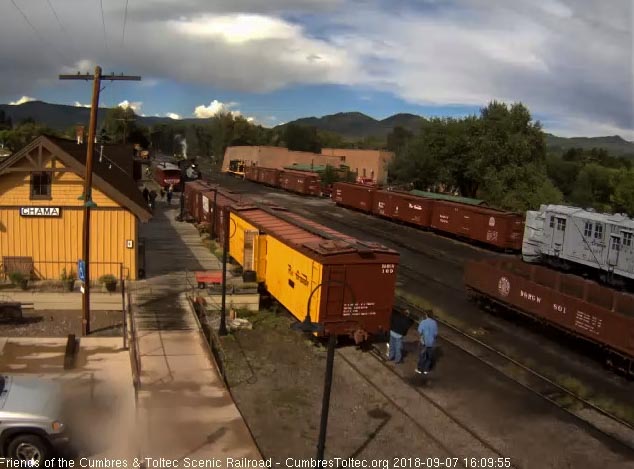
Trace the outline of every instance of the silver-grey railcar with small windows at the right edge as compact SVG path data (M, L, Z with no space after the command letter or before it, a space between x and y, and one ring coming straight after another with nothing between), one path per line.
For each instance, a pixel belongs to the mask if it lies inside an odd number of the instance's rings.
M634 220L562 205L526 213L522 257L623 287L634 280Z

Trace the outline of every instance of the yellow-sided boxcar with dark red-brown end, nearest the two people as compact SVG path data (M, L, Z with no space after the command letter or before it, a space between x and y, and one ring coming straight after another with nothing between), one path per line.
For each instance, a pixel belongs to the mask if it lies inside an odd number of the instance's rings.
M311 320L324 325L325 334L365 338L389 330L396 251L284 211L231 212L232 226L241 231L231 241L233 257L249 259L271 295L298 320L306 317L310 299Z

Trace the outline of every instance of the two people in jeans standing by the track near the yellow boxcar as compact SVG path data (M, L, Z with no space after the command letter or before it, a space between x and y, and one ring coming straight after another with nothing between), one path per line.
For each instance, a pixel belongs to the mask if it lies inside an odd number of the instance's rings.
M403 337L407 335L411 321L404 315L393 314L390 324L390 342L388 344L387 359L395 363L403 363ZM434 352L436 348L436 336L438 335L438 323L433 318L431 310L423 311L423 318L418 324L420 336L418 366L416 373L427 375L434 366Z

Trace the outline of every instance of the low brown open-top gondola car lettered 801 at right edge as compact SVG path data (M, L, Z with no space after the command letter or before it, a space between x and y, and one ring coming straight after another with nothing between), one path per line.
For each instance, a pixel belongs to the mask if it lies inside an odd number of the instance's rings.
M612 362L634 374L634 296L520 259L465 264L476 296L544 320L611 350Z

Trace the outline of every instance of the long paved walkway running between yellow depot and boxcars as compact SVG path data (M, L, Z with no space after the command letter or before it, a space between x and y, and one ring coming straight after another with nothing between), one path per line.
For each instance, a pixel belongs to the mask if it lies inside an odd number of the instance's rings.
M132 291L141 361L138 412L140 455L151 458L260 459L261 455L227 391L189 307L194 270L220 268L193 225L174 220L159 203L141 227L147 279Z

